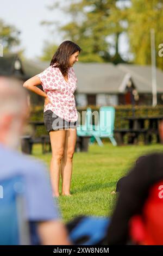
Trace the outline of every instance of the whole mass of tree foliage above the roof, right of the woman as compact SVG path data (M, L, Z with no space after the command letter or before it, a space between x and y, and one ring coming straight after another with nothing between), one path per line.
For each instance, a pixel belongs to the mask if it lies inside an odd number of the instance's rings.
M126 2L130 4L124 4ZM83 48L80 61L122 63L119 39L125 32L133 63L151 64L150 33L153 28L156 63L163 69L163 57L158 55L159 45L163 43L163 0L66 0L66 3L55 0L53 8L60 8L71 17L59 31L64 33L65 40L72 40ZM114 38L113 44L109 36Z

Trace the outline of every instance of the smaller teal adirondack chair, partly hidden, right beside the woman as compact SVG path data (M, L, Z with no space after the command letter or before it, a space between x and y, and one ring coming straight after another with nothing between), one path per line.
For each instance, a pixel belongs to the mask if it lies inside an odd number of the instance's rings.
M78 136L91 136L92 133L92 110L91 108L86 109L85 123L77 127Z

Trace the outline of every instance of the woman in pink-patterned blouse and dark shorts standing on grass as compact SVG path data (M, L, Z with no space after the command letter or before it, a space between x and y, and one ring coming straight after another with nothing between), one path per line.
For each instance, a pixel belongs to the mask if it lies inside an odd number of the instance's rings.
M73 95L77 88L77 78L73 65L78 62L81 50L74 42L62 42L50 66L23 84L23 87L45 97L43 119L52 145L51 184L55 197L59 197L60 173L62 195L70 196L72 159L78 126ZM36 87L39 84L44 92Z

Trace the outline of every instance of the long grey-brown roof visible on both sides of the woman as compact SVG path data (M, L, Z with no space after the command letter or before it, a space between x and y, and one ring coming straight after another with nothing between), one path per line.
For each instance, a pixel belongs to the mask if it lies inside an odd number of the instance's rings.
M16 70L17 60L21 66ZM0 58L0 75L15 74L27 80L48 66L49 62L20 60L17 54L10 54ZM79 62L74 65L74 70L78 78L78 93L124 93L129 79L133 81L139 93L152 93L151 66ZM158 93L163 93L163 72L160 69L156 69L156 81Z

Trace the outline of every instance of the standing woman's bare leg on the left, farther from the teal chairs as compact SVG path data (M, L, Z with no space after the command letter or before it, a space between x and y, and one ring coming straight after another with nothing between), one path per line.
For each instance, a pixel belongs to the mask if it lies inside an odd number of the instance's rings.
M49 132L52 145L50 174L53 196L55 197L59 197L60 164L64 155L66 132L66 130Z

